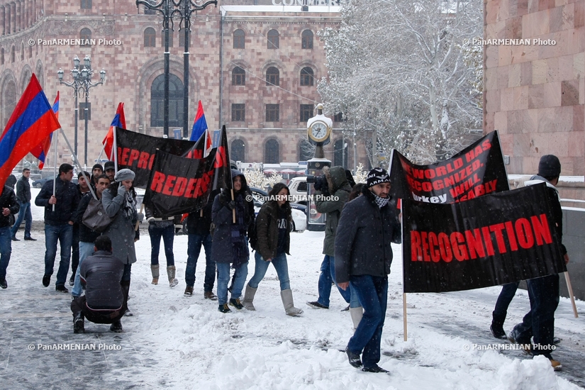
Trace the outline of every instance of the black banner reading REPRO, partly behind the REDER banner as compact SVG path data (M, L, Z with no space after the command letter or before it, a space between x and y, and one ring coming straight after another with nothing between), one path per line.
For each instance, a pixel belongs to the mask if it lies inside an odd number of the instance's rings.
M202 144L200 145L203 146ZM118 170L131 169L136 177L134 186L146 188L155 160L156 150L188 158L202 158L203 149L196 148L196 142L158 138L116 128L116 150L118 150Z

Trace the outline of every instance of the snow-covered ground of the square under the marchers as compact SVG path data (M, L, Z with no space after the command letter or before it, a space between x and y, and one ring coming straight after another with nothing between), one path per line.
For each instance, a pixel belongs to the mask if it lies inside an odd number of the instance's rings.
M33 215L40 219L42 211L35 209ZM51 286L42 286L42 231L34 231L33 237L39 240L13 243L9 288L0 291L1 389L532 390L579 389L585 384L581 301L580 318L573 317L568 299L561 299L556 313L555 335L562 342L553 356L562 362L562 372L555 373L547 360L533 360L520 351L474 349L473 345L498 342L489 333L498 287L408 294L408 341L403 341L399 245L393 246L381 347L380 365L389 369L388 376L360 372L340 352L352 335L352 325L349 313L340 311L345 302L337 291L332 291L329 310L306 306L306 301L316 299L323 233L291 235L289 274L295 304L305 311L300 318L285 316L272 268L257 291L257 311L219 313L217 302L203 297L203 254L194 296L184 296L184 235L175 238L179 285L171 289L165 282L150 284L146 233L136 244L139 260L132 269L129 306L135 316L123 318L124 333L86 323L87 333L82 335L72 333L69 295L54 289L56 267ZM527 294L518 291L505 328L519 322L528 308ZM38 350L39 344L53 343L121 349Z

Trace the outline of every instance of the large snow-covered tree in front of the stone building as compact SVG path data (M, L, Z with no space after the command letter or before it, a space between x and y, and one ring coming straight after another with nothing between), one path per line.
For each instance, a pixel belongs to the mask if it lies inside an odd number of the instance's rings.
M471 84L481 52L462 45L481 36L482 10L480 0L348 0L340 28L321 31L325 110L355 119L373 166L392 147L418 163L443 160L481 128Z

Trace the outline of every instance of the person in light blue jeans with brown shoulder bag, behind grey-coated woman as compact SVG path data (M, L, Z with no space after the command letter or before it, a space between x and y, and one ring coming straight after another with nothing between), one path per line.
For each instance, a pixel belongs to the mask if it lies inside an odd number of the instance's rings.
M102 174L97 178L98 183L96 184L96 196L101 201L101 196L104 194L104 190L110 186L110 179L105 174ZM94 243L101 233L91 230L83 223L83 216L89 206L89 201L94 199L91 194L85 194L82 200L79 201L79 206L75 212L75 223L79 225L79 265L83 264L84 260L94 253ZM73 289L71 295L74 298L82 295L82 282L79 274L79 267L77 267L74 274Z

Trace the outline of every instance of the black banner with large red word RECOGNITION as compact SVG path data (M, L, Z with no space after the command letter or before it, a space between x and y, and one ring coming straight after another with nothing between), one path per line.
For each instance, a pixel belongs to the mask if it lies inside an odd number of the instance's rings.
M456 204L402 201L404 292L478 289L565 272L545 184Z

